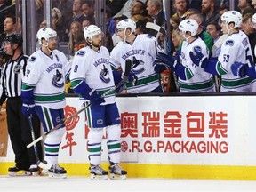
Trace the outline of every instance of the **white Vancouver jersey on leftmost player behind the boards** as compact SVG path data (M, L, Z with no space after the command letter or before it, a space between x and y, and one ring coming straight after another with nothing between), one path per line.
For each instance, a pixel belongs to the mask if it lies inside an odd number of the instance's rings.
M132 44L119 42L110 52L113 68L121 66L125 70L125 60L132 60L132 72L138 76L136 86L127 84L128 93L151 92L159 86L159 75L153 68L157 52L164 52L156 43L156 38L147 34L138 35Z

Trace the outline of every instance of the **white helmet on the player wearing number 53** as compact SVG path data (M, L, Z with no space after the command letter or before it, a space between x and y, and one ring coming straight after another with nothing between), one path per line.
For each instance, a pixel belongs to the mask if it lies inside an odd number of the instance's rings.
M228 25L230 22L235 23L235 28L239 28L242 25L242 14L236 11L224 12L221 15L221 20L225 20Z

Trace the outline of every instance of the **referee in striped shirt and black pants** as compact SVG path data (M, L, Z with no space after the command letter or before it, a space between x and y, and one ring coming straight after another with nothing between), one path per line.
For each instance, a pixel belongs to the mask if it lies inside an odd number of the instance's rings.
M28 56L22 52L22 43L23 40L20 34L12 34L4 38L4 49L9 58L6 60L1 72L0 112L4 100L7 99L7 126L15 155L15 166L8 169L9 174L36 175L39 172L39 168L36 164L34 148L28 149L26 147L32 142L29 122L28 118L21 112L21 79L24 76L28 61ZM40 136L40 121L36 115L32 118L32 121L35 137L38 138ZM37 150L39 158L42 159L40 143L37 145Z

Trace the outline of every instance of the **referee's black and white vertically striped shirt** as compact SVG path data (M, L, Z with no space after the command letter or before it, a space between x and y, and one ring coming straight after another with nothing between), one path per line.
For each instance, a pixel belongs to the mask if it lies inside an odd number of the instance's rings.
M21 93L21 80L25 73L28 63L28 56L23 53L16 60L9 59L4 64L1 73L0 84L2 93L0 92L0 105L6 98L19 97ZM1 88L0 88L1 90Z

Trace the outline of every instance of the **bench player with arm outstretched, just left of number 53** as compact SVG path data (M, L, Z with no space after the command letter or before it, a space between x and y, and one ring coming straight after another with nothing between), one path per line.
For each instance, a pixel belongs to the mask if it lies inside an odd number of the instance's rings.
M206 58L209 56L206 44L196 35L197 28L196 20L182 20L179 29L185 41L182 43L180 54L171 57L161 52L158 53L155 70L156 72L162 72L165 69L163 66L172 69L179 77L180 92L216 92L212 74L195 66L189 57L191 51L202 52Z

